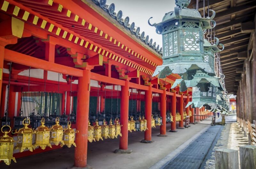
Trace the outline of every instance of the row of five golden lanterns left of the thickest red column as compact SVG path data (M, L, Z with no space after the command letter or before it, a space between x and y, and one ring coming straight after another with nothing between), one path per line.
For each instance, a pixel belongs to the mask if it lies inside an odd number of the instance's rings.
M63 128L59 125L59 118L55 119L56 124L53 125L50 129L44 125L44 118L41 120L41 125L33 131L32 128L29 128L30 120L28 118L22 121L24 127L20 128L18 131L12 131L12 134L17 134L17 142L13 140L12 137L9 137L7 134L11 131L11 127L4 125L1 128L3 136L0 137L0 161L3 160L6 165L11 164L11 160L16 162L13 157L13 150L20 150L23 152L28 149L29 151L35 150L36 147L41 147L41 149L45 149L47 146L51 147L51 143L55 145L59 145L63 147L64 145L69 148L71 145L76 147L75 141L75 133L76 132L71 128L71 122L68 122L67 129ZM4 127L9 127L10 131L3 131ZM33 144L33 134L36 134L36 142ZM14 147L14 142L16 142L16 146Z

